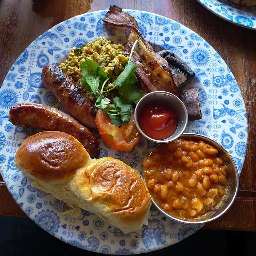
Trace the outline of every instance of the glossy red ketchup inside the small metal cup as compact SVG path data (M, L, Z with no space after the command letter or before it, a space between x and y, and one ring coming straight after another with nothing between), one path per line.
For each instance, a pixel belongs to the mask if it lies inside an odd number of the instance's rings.
M150 138L163 140L170 137L178 126L176 113L161 103L146 105L139 114L139 125Z

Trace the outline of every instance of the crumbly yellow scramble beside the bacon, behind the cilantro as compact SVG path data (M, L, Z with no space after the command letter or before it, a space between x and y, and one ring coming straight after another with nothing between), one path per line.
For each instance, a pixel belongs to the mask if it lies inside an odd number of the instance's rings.
M122 44L112 44L110 40L101 36L94 42L89 42L82 48L81 52L74 52L76 49L73 47L68 54L68 59L60 64L60 68L72 77L75 82L80 85L82 74L80 71L80 63L85 60L97 61L103 68L107 76L113 76L112 82L124 70L128 58L123 53L124 46Z

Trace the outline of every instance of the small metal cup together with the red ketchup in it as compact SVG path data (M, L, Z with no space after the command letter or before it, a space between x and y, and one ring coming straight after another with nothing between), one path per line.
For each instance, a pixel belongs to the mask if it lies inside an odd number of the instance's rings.
M139 100L134 110L134 121L140 134L149 141L168 143L184 133L188 112L174 94L154 91Z

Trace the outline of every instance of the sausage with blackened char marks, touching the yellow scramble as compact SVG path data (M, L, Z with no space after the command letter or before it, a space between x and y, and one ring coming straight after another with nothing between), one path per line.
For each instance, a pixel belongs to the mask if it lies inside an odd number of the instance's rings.
M88 128L96 128L97 108L70 76L54 65L46 65L42 70L42 82L62 103L68 113Z

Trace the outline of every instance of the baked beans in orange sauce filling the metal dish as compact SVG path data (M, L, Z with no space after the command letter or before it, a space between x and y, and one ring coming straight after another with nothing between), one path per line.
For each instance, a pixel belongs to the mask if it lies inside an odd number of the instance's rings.
M155 202L172 216L200 218L226 190L229 168L218 150L203 141L161 144L143 161L143 175Z

